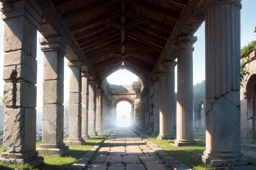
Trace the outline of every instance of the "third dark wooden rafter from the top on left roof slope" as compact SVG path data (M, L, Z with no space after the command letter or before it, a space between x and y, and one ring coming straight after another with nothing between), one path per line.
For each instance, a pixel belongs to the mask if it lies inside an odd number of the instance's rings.
M93 35L93 36L89 36L89 37L85 37L85 38L82 38L82 39L79 39L77 42L82 45L82 44L86 44L86 43L89 43L91 44L91 41L94 41L94 40L99 40L101 39L101 37L103 37L104 39L107 39L107 38L111 38L117 34L120 34L120 31L115 29L115 28L107 28L106 30L104 30L103 32L101 33L98 33L96 35ZM104 40L104 39L101 39ZM88 46L88 45L87 45Z

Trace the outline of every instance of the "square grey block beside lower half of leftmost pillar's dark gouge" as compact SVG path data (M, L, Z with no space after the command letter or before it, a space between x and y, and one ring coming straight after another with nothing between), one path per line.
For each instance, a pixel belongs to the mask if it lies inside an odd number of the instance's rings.
M16 84L16 106L37 107L37 87L21 81Z

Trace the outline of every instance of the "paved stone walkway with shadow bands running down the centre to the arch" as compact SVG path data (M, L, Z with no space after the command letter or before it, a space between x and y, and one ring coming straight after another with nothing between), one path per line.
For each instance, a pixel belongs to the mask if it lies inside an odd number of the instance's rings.
M88 170L168 170L129 128L115 129L98 150Z

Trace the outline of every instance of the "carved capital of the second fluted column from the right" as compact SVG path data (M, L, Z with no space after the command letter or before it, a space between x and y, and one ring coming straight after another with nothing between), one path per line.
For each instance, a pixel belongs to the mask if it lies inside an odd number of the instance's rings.
M197 42L197 37L192 35L182 35L177 38L178 50L182 50L184 48L190 48L194 51L193 44Z

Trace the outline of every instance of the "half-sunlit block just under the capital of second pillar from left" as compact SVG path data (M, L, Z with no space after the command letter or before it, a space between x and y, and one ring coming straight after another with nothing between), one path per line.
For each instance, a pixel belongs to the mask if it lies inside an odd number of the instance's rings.
M59 52L44 52L43 80L58 79L64 82L64 56Z

